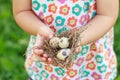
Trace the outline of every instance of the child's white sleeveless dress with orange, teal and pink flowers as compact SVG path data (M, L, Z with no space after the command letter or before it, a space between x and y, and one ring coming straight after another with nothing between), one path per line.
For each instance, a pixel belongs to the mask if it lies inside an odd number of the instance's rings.
M85 26L96 15L95 0L32 0L36 16L54 32ZM117 74L113 50L113 28L102 38L82 47L72 66L64 69L40 62L32 48L36 36L31 35L25 68L33 80L114 80Z

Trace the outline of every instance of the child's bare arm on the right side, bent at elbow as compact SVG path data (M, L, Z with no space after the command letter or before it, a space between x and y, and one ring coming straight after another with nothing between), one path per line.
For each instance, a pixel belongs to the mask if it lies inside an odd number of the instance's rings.
M119 0L96 0L97 15L86 25L81 45L96 41L108 32L118 17Z

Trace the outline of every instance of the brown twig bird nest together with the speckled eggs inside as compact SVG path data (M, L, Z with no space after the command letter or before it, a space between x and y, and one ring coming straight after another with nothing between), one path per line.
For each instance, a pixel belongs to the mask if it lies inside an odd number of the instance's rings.
M80 34L84 30L86 30L86 27L79 27L79 28L75 28L72 30L63 31L60 35L55 34L54 37L56 37L57 39L61 39L61 38L65 38L65 40L68 39L69 43L65 43L65 44L67 44L67 46L65 46L63 43L62 48L60 46L55 46L56 45L56 44L54 44L55 40L53 41L53 43L50 43L50 40L44 41L43 50L47 53L47 55L49 57L51 57L53 59L54 66L59 66L62 68L67 68L68 66L71 66L71 64L74 60L75 48L78 46L77 44L81 40ZM63 41L64 41L64 39L63 39ZM59 41L58 44L61 44L61 43L62 42ZM54 47L51 46L51 44ZM67 52L65 52L65 51L67 51L69 55L67 55ZM60 55L58 55L58 54L60 54ZM65 56L65 57L59 58L59 57L63 57L63 56Z

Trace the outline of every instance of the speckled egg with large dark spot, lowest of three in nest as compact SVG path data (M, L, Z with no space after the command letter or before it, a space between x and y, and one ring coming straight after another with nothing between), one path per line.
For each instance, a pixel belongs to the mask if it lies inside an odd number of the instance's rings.
M57 58L64 61L70 54L71 54L70 49L61 49L57 53Z

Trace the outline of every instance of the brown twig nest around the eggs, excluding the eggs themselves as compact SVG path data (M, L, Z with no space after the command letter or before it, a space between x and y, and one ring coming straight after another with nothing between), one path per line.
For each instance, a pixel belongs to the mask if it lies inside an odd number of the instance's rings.
M78 42L81 40L80 34L86 30L87 27L79 27L76 29L68 30L68 31L63 31L60 35L55 34L55 37L61 38L61 37L67 37L69 39L69 46L68 48L71 50L71 54L65 59L65 61L60 60L56 57L57 52L61 48L53 48L49 44L49 40L44 41L43 45L43 50L50 56L53 60L54 66L60 66L62 68L67 68L68 66L71 65L74 59L75 55L75 48L77 47Z

